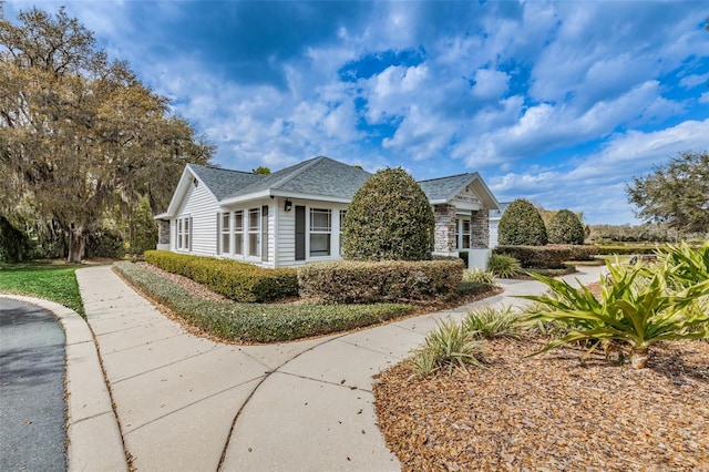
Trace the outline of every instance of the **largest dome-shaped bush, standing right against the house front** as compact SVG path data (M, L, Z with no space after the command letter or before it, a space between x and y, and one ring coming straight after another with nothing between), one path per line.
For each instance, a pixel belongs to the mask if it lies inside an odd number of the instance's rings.
M357 191L342 225L348 260L429 260L435 219L421 186L402 168L377 172Z

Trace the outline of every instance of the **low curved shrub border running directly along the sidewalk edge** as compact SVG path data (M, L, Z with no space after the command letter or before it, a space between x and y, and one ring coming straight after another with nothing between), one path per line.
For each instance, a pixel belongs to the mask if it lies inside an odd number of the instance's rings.
M383 322L413 311L411 305L255 305L208 301L135 264L114 265L132 285L188 324L223 339L279 342Z

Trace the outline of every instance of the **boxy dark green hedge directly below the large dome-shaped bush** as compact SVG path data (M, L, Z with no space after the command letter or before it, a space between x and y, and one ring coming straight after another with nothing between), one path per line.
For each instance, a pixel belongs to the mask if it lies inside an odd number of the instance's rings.
M460 259L349 260L298 269L300 296L330 304L450 299L459 295L462 278Z

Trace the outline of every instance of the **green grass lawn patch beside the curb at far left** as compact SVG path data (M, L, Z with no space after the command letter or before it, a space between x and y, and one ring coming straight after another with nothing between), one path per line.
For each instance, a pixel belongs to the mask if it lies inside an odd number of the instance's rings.
M84 316L74 275L80 267L48 261L0 264L0 293L56 301Z

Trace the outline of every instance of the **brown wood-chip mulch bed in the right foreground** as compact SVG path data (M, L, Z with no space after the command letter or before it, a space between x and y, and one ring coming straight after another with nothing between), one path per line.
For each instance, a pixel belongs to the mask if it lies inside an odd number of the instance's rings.
M657 346L635 370L542 341L484 341L487 369L374 386L405 471L709 471L709 342Z

